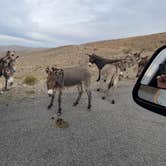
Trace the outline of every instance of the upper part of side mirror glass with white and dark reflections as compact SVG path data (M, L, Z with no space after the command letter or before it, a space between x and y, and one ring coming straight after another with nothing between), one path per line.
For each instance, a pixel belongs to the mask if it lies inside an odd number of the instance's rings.
M163 49L151 63L141 84L166 89L166 49Z

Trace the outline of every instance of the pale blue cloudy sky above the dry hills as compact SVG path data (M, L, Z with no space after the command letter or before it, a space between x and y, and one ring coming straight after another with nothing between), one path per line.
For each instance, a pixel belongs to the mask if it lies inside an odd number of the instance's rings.
M0 0L0 45L57 47L166 32L166 0Z

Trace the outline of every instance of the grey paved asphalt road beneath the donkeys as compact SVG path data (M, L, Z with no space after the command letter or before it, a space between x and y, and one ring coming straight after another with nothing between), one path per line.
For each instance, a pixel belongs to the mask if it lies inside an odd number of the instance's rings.
M0 96L0 166L165 166L166 118L137 106L131 90L119 88L115 105L93 92L91 111L86 96L73 108L75 94L64 95L66 129L47 96Z

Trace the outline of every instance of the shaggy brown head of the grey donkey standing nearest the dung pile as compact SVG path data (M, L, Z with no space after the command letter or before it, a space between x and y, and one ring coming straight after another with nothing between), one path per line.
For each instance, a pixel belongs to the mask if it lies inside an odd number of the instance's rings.
M55 67L52 67L51 69L49 67L46 68L47 73L47 93L49 96L52 96L56 90L56 88L61 88L64 85L64 73L62 69L58 69Z

